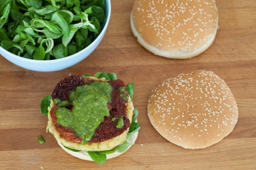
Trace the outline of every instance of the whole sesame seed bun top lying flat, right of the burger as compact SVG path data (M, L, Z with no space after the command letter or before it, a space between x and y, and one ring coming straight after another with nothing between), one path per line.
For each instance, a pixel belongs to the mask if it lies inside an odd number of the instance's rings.
M200 149L233 131L238 109L223 79L212 71L197 70L155 87L148 117L165 139L186 149Z

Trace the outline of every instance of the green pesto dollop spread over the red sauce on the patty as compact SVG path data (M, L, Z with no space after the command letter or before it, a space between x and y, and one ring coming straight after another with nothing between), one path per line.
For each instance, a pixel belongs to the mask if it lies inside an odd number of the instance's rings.
M109 116L108 102L111 101L112 86L105 81L78 86L69 95L73 110L65 107L56 110L58 124L68 126L83 139L90 140L98 125Z

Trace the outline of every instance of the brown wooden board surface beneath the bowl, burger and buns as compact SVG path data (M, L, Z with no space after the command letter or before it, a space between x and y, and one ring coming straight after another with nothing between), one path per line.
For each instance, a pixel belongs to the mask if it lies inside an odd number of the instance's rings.
M111 20L98 48L82 62L51 73L26 70L0 56L0 169L256 169L256 2L216 0L219 30L211 47L187 60L155 56L130 30L134 0L111 0ZM180 73L205 69L225 80L239 107L229 136L207 149L190 150L159 136L147 115L154 86ZM105 164L72 157L46 133L40 102L69 74L113 72L134 82L141 129L136 144ZM38 135L45 144L37 142Z

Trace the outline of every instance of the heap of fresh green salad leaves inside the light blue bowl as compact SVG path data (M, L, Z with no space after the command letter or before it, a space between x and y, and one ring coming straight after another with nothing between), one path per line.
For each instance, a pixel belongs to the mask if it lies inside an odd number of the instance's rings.
M104 0L0 0L0 43L34 60L80 52L101 32ZM110 75L109 75L110 76Z

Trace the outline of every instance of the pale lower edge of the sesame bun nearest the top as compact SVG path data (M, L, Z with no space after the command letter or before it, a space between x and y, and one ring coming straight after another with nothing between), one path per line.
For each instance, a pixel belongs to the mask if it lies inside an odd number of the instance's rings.
M162 56L170 59L190 59L192 57L200 55L202 52L207 50L209 46L212 45L218 30L218 28L216 28L214 34L212 34L212 36L208 39L207 43L202 45L200 48L190 50L190 51L172 52L172 51L158 49L155 46L150 45L148 44L148 42L144 41L143 37L141 37L141 35L138 33L138 31L134 27L132 13L130 15L130 26L131 26L131 31L133 32L134 37L137 38L137 41L140 45L144 46L144 48L147 49L148 51L154 53L154 55L158 55L158 56Z

